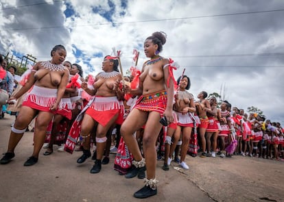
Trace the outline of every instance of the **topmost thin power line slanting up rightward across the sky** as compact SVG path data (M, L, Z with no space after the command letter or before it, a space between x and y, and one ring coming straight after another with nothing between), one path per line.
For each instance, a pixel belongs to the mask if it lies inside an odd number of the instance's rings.
M243 15L243 14L260 14L260 13L268 13L268 12L283 12L284 9L279 10L261 10L261 11L252 11L252 12L235 12L231 14L214 14L214 15L205 15L205 16L190 16L183 18L163 18L163 19L153 19L153 20L145 20L145 21L128 21L128 22L112 22L112 23L97 23L97 24L87 24L87 25L71 25L69 27L95 27L100 25L119 25L119 24L128 24L128 23L148 23L148 22L157 22L157 21L178 21L178 20L187 20L193 18L209 18L209 17L219 17L219 16L235 16L235 15ZM55 29L55 28L69 28L64 26L54 26L54 27L27 27L27 28L13 28L6 30L30 30L30 29Z

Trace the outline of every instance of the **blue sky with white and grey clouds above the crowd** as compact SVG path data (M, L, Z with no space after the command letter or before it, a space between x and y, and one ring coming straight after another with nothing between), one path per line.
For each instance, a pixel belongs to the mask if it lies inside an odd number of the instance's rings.
M145 38L164 31L161 55L180 64L176 77L186 69L195 97L224 94L284 125L283 16L281 0L1 0L0 53L49 60L62 44L67 60L95 75L115 47L126 73L133 49L141 68Z

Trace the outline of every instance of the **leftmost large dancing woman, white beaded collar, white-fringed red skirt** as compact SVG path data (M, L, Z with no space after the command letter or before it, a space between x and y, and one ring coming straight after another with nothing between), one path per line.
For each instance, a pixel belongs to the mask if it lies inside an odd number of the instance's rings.
M62 45L56 45L51 50L51 60L37 62L32 68L27 84L14 97L10 97L10 101L18 99L33 86L32 90L23 100L19 116L17 116L12 126L8 151L0 160L1 164L8 164L12 160L16 145L36 115L34 152L27 159L24 166L32 166L38 162L38 153L45 142L47 125L54 114L56 114L68 83L69 71L62 65L66 54L66 49Z

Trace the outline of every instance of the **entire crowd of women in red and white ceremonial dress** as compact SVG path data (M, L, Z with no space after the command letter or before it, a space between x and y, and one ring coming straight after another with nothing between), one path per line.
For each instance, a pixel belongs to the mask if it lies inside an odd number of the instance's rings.
M43 155L51 155L53 145L60 143L64 145L61 151L82 151L78 164L92 156L91 145L95 144L90 173L99 173L102 164L109 163L110 144L115 142L115 170L126 178L144 179L145 186L134 193L137 198L157 193L156 160L161 155L165 171L171 160L189 169L185 158L187 154L197 156L198 150L200 157L240 154L283 158L280 124L255 114L248 116L244 110L231 110L227 101L217 108L215 97L207 99L204 91L195 100L189 92L189 77L181 75L176 81L174 61L160 55L165 42L163 32L146 38L144 53L150 60L143 63L141 71L132 68L130 77L119 73L117 52L104 57L102 72L86 79L80 65L64 62L67 51L56 45L51 60L37 62L22 77L23 86L10 92L8 103L22 100L21 109L0 163L12 160L16 145L34 119L34 151L24 166L38 162L45 142ZM60 134L62 141L58 143Z

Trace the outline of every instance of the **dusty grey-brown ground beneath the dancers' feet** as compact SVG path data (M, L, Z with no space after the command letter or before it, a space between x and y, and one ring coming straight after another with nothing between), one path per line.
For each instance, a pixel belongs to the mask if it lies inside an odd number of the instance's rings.
M0 120L0 153L7 149L10 123L14 117ZM82 153L56 151L44 156L40 151L38 163L24 167L32 153L32 132L16 147L16 157L0 165L0 201L141 201L132 194L143 186L141 179L125 179L110 164L92 175L91 159L76 164ZM147 201L284 201L284 162L258 157L187 156L189 171L175 162L163 171L158 161L156 177L158 194Z

